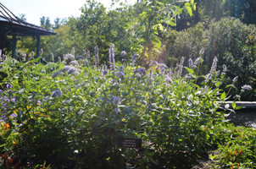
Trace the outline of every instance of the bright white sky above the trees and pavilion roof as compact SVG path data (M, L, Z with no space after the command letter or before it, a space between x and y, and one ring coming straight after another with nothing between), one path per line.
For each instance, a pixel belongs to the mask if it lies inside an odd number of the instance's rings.
M110 8L111 0L95 1L103 3L106 8ZM132 4L136 0L127 0L127 2ZM81 15L79 9L84 6L86 0L1 0L0 3L18 17L19 14L25 14L28 23L40 25L42 16L49 17L51 24L56 18L79 17Z

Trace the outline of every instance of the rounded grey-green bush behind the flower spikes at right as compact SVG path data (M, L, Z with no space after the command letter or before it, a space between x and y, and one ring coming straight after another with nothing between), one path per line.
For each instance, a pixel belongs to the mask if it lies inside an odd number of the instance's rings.
M206 52L202 58L205 61L201 68L201 73L208 74L211 61L214 56L218 57L218 67L223 64L227 67L226 75L230 79L225 79L222 89L226 91L225 85L231 84L231 80L238 76L238 89L242 84L252 85L255 88L255 26L244 25L239 19L224 18L219 22L214 22L204 29L203 24L198 23L193 28L177 32L170 31L166 37L166 51L169 57L165 62L175 67L176 63L185 57L195 60L202 48ZM185 62L187 63L187 62ZM233 93L234 96L234 93ZM231 99L233 99L231 97ZM242 95L242 101L254 101L255 91L249 95Z

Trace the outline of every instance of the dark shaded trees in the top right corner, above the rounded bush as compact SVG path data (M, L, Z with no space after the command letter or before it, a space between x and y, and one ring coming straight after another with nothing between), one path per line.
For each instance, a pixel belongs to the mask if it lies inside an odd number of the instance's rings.
M177 20L175 30L186 30L198 22L202 23L205 28L208 28L212 19L220 21L224 17L234 17L240 19L244 24L256 24L256 2L254 0L195 0L197 3L196 11L190 17L187 12L180 15Z

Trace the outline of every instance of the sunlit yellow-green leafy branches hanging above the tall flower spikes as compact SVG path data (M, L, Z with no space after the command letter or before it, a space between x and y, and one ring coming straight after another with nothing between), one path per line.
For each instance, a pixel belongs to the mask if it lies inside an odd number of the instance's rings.
M141 54L142 65L145 62L144 60L155 59L153 56L159 54L161 47L159 34L167 30L170 25L175 25L176 15L182 13L183 8L176 6L176 2L166 0L144 1L144 8L147 10L139 14L139 18L133 20L128 27L132 31L134 26L131 25L136 25L134 36L137 41L131 46L131 51ZM184 8L192 15L192 9L196 9L196 3L191 0L190 3L185 3Z

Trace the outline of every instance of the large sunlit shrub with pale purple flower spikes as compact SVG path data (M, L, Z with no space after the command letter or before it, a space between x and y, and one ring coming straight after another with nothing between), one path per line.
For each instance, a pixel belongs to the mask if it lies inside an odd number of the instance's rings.
M92 67L73 51L63 62L42 65L37 59L19 63L23 71L8 74L4 83L13 85L17 101L7 102L0 110L7 117L15 112L16 121L4 120L9 132L0 139L0 153L12 150L22 167L44 161L58 168L189 168L196 164L215 138L205 128L222 125L228 116L225 111L233 111L220 107L229 92L219 90L225 74L217 71L217 59L209 74L198 76L201 57L193 64L191 60L190 68L184 67L182 57L173 70L155 61L146 70L136 65L140 58L134 55L127 68L129 63L115 63L111 44L107 68L99 67L100 50L95 51ZM2 68L10 69L6 64ZM237 109L235 103L232 107ZM118 148L119 137L142 139L142 150Z

